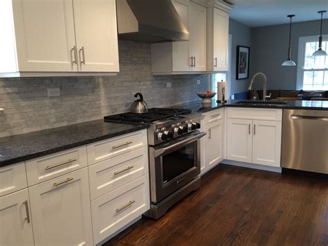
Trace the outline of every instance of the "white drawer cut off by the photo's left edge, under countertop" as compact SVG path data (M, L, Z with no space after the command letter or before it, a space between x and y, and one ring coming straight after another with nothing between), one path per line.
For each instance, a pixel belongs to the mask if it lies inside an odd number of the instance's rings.
M0 168L0 197L27 187L25 163Z

